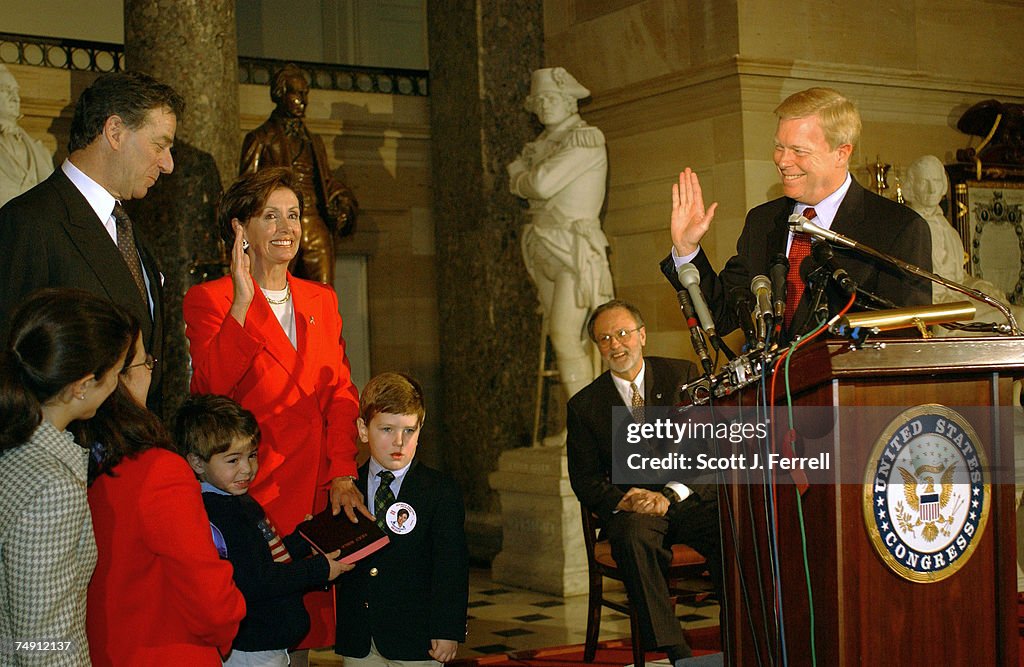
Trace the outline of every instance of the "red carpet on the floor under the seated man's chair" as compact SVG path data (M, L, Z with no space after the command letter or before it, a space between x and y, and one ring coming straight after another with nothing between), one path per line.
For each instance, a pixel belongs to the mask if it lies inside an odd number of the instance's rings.
M694 655L707 653L718 653L722 649L719 643L718 626L701 628L699 630L687 630L686 638L693 649ZM649 653L646 655L648 662L665 658L664 653ZM594 662L585 663L583 661L583 644L572 647L552 647L550 649L532 649L529 651L516 651L495 656L483 656L480 658L466 658L449 663L450 667L567 667L569 665L591 664L596 667L623 667L623 665L633 664L633 644L629 639L612 639L609 641L599 641L597 644L597 656Z

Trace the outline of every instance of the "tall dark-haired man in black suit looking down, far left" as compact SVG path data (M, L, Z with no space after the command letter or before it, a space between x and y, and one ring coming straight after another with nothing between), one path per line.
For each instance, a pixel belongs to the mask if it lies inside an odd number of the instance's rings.
M74 286L134 315L146 350L163 351L163 276L121 203L145 196L174 168L171 145L184 100L144 74L96 79L79 97L68 159L49 178L0 209L0 335L40 287ZM150 388L159 402L160 366Z

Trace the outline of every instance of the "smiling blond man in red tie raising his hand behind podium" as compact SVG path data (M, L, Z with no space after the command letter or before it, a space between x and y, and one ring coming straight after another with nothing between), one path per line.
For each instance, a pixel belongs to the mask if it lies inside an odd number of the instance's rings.
M700 289L721 333L738 325L727 307L727 295L737 287L750 289L751 279L768 275L779 254L790 257L787 287L803 290L800 253L807 235L788 230L788 218L799 213L824 228L904 261L931 270L932 245L928 223L906 206L879 197L859 185L849 172L850 157L860 136L860 115L850 100L830 88L809 88L794 93L775 110L774 162L784 197L762 204L746 215L736 243L736 255L716 274L700 248L718 204L707 209L697 175L689 168L679 174L672 190L672 252L662 261L662 272L677 290L682 289L676 269L692 262L700 273ZM806 252L806 251L805 251ZM835 263L846 268L864 290L895 305L931 303L928 281L844 249L835 251ZM826 289L829 311L836 312L849 297L831 284ZM809 310L810 292L794 300L786 312L791 334L816 325Z

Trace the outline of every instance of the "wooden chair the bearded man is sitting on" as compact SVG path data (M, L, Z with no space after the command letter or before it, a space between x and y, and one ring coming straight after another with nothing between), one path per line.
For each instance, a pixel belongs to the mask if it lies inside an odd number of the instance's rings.
M623 577L618 572L618 565L611 557L611 545L608 544L607 540L598 540L601 519L582 504L580 505L580 514L583 517L583 540L587 547L587 566L590 571L587 642L584 644L583 659L585 662L594 662L594 656L597 653L597 635L601 629L601 607L603 606L630 617L633 664L635 667L643 667L644 650L640 643L639 619L636 612L629 601L618 602L604 596L604 577L616 581L623 581ZM702 591L677 588L673 582L684 578L699 577L706 569L707 560L694 549L685 544L674 545L672 547L672 565L669 567L668 573L670 585L665 594L669 595L673 601L682 596L692 595L696 597L702 594Z

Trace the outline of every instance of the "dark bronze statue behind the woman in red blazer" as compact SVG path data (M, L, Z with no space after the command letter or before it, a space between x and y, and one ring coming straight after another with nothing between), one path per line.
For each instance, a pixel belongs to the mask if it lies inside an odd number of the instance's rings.
M295 172L303 203L302 244L289 268L299 278L333 285L333 235L352 233L358 202L331 173L324 140L306 128L308 96L309 83L295 65L288 64L273 75L270 99L276 109L246 134L239 173L264 167L289 167Z

